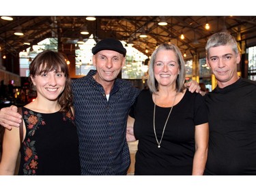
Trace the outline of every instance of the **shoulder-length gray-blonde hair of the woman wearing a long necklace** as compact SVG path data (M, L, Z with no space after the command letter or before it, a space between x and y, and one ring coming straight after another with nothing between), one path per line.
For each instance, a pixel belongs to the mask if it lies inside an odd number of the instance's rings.
M172 50L175 55L177 56L177 63L179 65L180 74L177 75L176 79L176 90L177 92L182 92L184 90L184 82L185 82L185 76L186 76L186 70L185 70L185 61L182 56L182 52L180 52L180 49L175 46L175 44L160 44L156 50L152 53L152 56L150 58L150 65L148 70L148 79L147 79L147 85L150 88L150 91L153 93L158 92L158 82L156 81L156 78L154 76L154 63L156 61L156 54L160 50Z

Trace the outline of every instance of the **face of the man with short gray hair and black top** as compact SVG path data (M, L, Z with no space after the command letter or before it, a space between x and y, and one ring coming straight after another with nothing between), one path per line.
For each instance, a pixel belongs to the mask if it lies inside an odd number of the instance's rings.
M239 79L237 65L240 63L240 54L233 52L231 46L210 48L207 63L211 67L220 88L229 86Z

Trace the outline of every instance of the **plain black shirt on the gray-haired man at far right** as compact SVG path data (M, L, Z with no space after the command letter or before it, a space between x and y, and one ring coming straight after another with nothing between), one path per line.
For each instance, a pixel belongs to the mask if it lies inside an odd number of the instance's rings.
M205 175L256 175L256 82L240 78L205 96L209 152Z

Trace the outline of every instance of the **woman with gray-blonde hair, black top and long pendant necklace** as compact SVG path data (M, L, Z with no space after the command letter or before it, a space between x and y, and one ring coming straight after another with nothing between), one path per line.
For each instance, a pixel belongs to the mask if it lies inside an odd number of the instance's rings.
M130 111L135 122L128 139L139 140L134 175L203 175L207 108L201 94L185 88L185 75L177 46L158 46L150 60L150 90L141 91Z

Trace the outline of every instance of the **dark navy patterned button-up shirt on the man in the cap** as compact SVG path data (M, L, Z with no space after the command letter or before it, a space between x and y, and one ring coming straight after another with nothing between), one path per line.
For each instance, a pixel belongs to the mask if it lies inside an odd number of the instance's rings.
M95 70L72 82L82 175L126 175L129 109L139 94L130 82L116 79L109 95L94 80Z

